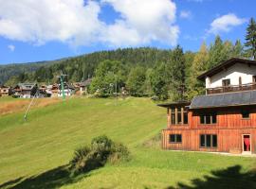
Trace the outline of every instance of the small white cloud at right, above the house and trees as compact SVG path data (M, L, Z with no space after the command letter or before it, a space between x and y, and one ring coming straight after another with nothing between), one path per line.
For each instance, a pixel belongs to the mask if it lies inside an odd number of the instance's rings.
M238 18L235 14L229 13L213 20L208 32L213 34L229 32L232 27L243 25L246 21L244 18Z

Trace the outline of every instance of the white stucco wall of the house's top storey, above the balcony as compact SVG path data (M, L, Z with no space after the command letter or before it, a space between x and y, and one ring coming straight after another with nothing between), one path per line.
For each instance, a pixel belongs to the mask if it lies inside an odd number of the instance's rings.
M242 77L242 84L252 82L252 76L256 76L256 66L248 66L243 63L236 63L212 77L206 78L206 88L222 86L223 79L230 79L230 85L239 85L239 77Z

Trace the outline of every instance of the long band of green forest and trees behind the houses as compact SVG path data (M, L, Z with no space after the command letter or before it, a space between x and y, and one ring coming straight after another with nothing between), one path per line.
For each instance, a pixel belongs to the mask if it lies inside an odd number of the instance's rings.
M202 43L198 52L184 52L180 45L173 50L156 48L125 48L101 51L43 65L33 72L10 77L7 84L35 81L57 82L60 72L69 81L92 77L91 94L113 95L125 89L133 96L155 96L160 100L190 100L204 94L205 83L196 77L230 58L256 59L256 23L250 19L246 43L223 41L216 36L208 46Z

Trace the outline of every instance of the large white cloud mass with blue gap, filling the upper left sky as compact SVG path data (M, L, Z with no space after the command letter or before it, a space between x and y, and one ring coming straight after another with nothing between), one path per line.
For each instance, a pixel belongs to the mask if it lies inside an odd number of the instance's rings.
M121 18L113 25L99 19L108 4ZM0 0L0 36L33 44L105 43L127 46L153 41L176 44L179 28L170 0Z

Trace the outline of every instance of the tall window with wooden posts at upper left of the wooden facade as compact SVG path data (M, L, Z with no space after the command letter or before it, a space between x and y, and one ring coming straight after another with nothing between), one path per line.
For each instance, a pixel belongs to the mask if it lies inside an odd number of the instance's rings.
M171 110L172 125L188 124L188 112L185 108L173 108Z

